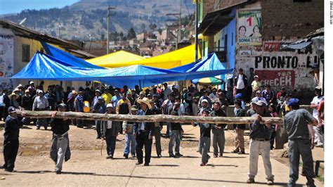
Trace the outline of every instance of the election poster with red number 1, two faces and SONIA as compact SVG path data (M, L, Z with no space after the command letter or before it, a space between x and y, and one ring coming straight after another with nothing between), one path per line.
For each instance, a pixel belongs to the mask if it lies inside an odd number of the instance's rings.
M240 46L261 45L261 11L238 11L237 41Z

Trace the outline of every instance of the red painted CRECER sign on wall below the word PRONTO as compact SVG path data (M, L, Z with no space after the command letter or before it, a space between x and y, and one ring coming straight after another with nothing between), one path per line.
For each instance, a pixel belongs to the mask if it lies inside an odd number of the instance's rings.
M294 70L256 70L255 75L259 76L261 84L280 87L294 87Z

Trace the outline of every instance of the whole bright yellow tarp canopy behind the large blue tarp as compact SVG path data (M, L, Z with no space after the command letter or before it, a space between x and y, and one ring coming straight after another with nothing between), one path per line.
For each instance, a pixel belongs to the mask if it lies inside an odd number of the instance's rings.
M116 52L117 53L117 52ZM111 53L110 55L112 55ZM109 55L109 56L110 56ZM131 54L132 56L135 56ZM129 56L129 55L128 55ZM117 56L112 60L111 58L103 59L101 57L93 58L91 60L86 60L93 65L98 65L100 67L124 67L129 65L146 65L150 67L158 67L162 69L170 69L173 67L178 67L181 65L186 65L195 61L195 45L186 46L182 49L176 51L171 51L169 53L162 54L160 56L154 56L152 58L136 59L131 60L128 56ZM198 51L198 58L201 58L200 51Z

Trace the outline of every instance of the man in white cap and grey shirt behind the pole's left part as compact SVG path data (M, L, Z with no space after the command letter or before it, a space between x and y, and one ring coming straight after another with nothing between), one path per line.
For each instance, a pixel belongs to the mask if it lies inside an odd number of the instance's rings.
M47 98L44 97L43 91L38 90L37 93L38 93L38 96L36 96L36 98L34 98L34 103L32 104L32 110L35 110L35 111L47 110L49 107L48 100L47 100ZM45 118L37 119L37 122L36 122L37 130L41 128L41 125L43 125L45 130L47 129L47 120Z

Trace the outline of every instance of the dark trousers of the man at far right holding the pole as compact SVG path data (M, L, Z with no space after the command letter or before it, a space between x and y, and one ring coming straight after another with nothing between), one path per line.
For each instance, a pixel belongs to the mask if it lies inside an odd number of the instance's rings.
M289 183L288 186L294 186L299 179L299 156L303 160L303 172L306 175L307 186L315 186L315 173L313 170L313 157L311 151L311 142L308 139L293 139L289 140Z

